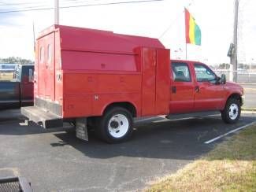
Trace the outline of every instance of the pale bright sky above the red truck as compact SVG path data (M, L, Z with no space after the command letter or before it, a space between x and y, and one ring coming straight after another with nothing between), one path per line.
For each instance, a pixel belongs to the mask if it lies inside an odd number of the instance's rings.
M60 6L91 5L131 0L60 0ZM134 0L139 1L139 0ZM54 10L1 13L32 7L54 7L54 0L0 1L0 57L34 60L35 36L54 24ZM60 9L60 24L95 28L121 34L158 38L171 49L172 58L185 59L184 7L202 31L202 46L187 44L187 59L209 65L228 63L232 42L234 0L163 0L111 6ZM256 1L239 1L239 61L256 61Z

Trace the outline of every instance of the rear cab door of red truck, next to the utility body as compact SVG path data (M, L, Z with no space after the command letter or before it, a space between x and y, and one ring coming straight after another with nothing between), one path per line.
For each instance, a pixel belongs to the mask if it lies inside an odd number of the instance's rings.
M193 112L195 83L192 79L191 68L188 63L172 62L170 91L170 113L176 114Z

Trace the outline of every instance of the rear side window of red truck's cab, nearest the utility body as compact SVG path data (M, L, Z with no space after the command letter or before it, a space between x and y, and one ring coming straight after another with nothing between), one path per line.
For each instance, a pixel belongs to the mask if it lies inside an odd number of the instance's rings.
M176 82L191 82L191 74L186 63L172 63L173 79Z

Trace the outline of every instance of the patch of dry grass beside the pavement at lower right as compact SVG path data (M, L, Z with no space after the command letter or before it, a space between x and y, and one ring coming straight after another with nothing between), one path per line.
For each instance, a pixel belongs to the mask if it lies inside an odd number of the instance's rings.
M228 138L146 191L256 191L256 126Z

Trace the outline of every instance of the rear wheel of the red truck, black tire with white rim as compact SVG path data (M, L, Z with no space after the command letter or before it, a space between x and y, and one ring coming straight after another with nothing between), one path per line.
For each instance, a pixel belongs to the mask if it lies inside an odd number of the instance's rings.
M132 136L132 114L124 108L109 109L98 121L96 134L108 143L127 141Z

